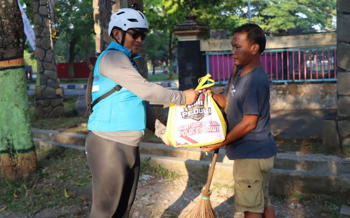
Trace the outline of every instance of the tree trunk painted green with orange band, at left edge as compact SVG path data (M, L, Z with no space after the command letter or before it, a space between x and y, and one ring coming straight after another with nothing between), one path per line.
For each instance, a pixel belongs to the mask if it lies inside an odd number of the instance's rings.
M37 167L31 136L23 61L24 29L17 1L0 8L0 166L11 180L26 178Z

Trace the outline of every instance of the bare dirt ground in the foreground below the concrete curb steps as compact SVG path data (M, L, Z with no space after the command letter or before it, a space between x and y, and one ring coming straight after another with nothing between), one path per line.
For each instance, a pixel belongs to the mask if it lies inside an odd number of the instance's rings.
M85 163L86 164L86 163ZM42 181L49 183L49 181ZM199 200L204 181L186 177L161 178L141 172L137 195L129 217L184 217ZM52 184L52 183L51 183ZM88 217L91 205L91 187L72 187L69 182L54 183L66 187L69 195L76 195L66 206L39 208L32 214L26 212L0 212L0 217ZM233 189L214 183L210 202L216 217L233 217ZM334 197L290 194L271 196L277 217L339 217L340 202Z

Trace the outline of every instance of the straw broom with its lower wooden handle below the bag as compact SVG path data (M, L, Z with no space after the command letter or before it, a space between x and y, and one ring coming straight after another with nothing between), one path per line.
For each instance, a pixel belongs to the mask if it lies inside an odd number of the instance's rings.
M212 175L214 174L215 163L217 159L218 148L214 150L214 154L211 159L211 165L206 179L205 188L201 190L201 196L199 202L185 215L185 218L214 218L214 211L211 208L210 183Z

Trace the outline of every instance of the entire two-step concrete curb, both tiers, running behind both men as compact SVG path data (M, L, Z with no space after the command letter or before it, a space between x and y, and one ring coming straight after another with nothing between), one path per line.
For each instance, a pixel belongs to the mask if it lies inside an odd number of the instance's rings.
M84 150L85 135L35 128L32 128L32 133L38 148L65 147ZM224 149L220 151L219 156L222 157L223 152ZM201 179L203 183L211 163L211 154L203 158L198 148L174 149L164 144L141 142L140 153L143 163L160 165L189 178ZM233 161L225 162L223 158L222 160L223 162L216 162L212 182L232 184ZM347 199L350 195L349 164L349 159L337 156L278 153L275 168L271 171L270 190L275 194L317 193Z

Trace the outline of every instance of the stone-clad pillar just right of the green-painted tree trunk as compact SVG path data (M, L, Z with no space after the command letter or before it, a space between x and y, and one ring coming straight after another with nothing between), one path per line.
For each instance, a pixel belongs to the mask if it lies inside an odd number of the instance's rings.
M51 38L51 18L47 0L33 0L35 46L40 95L35 96L38 117L61 117L64 115L63 94L59 88L56 63Z

